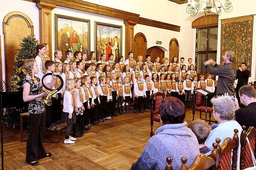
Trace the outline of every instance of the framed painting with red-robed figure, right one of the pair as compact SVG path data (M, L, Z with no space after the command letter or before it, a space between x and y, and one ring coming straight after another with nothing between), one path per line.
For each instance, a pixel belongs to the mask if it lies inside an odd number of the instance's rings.
M122 26L95 22L95 52L97 61L102 53L108 61L108 55L112 53L113 61L117 62L122 55Z

